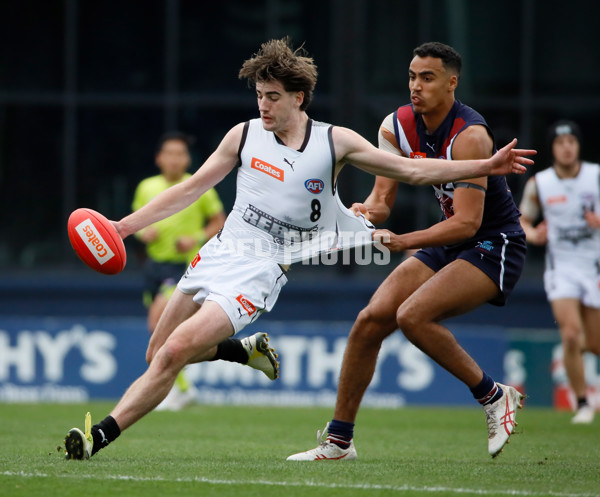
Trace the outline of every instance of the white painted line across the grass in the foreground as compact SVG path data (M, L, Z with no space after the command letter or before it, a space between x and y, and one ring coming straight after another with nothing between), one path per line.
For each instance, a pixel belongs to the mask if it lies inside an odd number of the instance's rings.
M208 483L210 485L264 485L272 487L318 487L346 490L385 490L387 492L421 492L421 493L455 493L455 494L474 494L474 495L516 495L518 497L600 497L600 494L589 493L566 493L553 492L552 490L536 492L529 490L498 490L498 489L478 489L478 488L452 488L452 487L430 487L424 485L417 487L414 485L373 485L373 484L352 484L352 483L325 483L316 481L269 481L269 480L218 480L197 476L193 478L165 478L162 476L131 476L131 475L50 475L47 473L26 473L25 471L4 471L2 476L15 476L21 478L84 478L88 480L119 480L136 482L173 482L173 483Z

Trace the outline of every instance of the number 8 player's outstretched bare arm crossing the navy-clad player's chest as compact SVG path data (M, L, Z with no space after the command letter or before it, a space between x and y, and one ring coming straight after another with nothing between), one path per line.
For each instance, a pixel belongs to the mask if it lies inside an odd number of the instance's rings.
M334 128L333 141L338 162L350 162L377 176L413 185L448 183L480 176L522 174L533 164L527 156L535 150L515 149L517 140L500 149L489 159L453 160L407 159L375 148L358 133Z

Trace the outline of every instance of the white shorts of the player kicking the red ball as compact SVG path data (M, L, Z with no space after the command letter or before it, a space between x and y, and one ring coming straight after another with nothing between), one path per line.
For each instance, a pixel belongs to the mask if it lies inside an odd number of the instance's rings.
M237 333L273 308L286 283L284 271L272 259L236 252L215 236L200 249L177 288L194 295L197 304L219 304Z

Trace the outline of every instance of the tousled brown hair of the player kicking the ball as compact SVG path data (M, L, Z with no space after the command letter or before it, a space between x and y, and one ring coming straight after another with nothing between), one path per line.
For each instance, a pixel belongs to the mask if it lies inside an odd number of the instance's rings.
M317 66L304 47L293 50L290 43L287 36L263 43L258 53L244 62L238 77L253 85L257 81L279 81L285 91L304 92L300 110L306 110L317 84Z

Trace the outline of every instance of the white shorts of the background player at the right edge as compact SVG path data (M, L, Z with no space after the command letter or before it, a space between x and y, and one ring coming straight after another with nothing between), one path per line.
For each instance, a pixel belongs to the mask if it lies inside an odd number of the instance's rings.
M544 271L544 290L549 301L577 299L587 307L600 308L600 275L595 263L556 264Z

